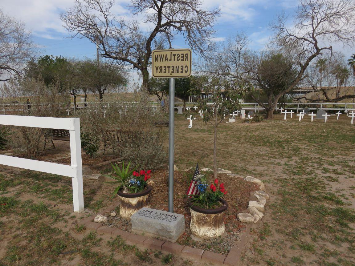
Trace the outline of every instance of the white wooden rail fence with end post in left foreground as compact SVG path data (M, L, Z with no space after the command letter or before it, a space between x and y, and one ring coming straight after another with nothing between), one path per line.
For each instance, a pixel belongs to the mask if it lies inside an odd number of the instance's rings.
M0 115L0 124L7 126L68 129L70 133L71 165L0 155L0 164L59 174L72 178L74 211L84 209L83 173L81 164L80 119L37 116Z

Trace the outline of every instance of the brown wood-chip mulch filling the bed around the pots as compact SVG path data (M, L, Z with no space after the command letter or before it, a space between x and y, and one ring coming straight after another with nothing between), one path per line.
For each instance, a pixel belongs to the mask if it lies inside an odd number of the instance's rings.
M213 173L208 173L208 180L213 182ZM193 248L200 248L227 254L229 249L237 242L240 233L244 230L245 224L239 222L236 218L240 212L245 212L248 204L250 192L258 190L258 186L245 182L239 177L229 177L226 174L218 174L219 183L225 184L228 193L224 199L228 203L228 209L224 213L225 233L218 238L211 240L196 239L190 231L190 209L187 206L189 199L186 196L193 171L174 173L174 212L185 216L185 233L176 243L188 245ZM149 196L149 203L152 209L168 211L168 171L155 171L152 173L151 180L154 181L152 192ZM118 210L117 210L118 211ZM109 220L104 225L117 227L125 231L131 231L131 223L119 216L108 217Z

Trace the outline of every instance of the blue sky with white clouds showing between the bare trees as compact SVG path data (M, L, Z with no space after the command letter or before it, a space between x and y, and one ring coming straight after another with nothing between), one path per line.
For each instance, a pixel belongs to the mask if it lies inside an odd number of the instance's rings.
M116 16L130 18L129 0L116 0ZM250 39L249 48L259 50L267 44L272 32L269 24L284 12L292 22L298 5L296 0L202 0L203 7L220 7L221 17L215 24L213 40L223 41L230 35L244 32ZM59 20L60 13L72 7L75 0L0 0L4 13L21 20L31 31L33 41L43 55L83 59L95 58L95 44L87 39L70 38L70 33ZM142 28L147 28L143 23ZM183 38L173 42L173 48L188 48Z

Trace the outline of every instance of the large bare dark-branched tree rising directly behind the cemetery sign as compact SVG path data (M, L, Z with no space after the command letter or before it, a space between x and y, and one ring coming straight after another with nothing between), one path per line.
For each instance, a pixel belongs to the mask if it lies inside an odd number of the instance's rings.
M166 44L171 48L178 34L184 35L194 51L207 49L220 11L204 10L201 4L201 0L131 0L132 15L143 15L142 22L152 25L147 33L136 20L116 17L111 12L112 0L76 0L61 20L72 37L96 43L103 57L141 71L143 88L148 89L152 50L163 49Z

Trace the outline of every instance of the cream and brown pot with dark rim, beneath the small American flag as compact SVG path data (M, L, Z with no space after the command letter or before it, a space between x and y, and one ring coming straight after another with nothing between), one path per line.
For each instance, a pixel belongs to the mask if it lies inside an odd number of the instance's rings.
M190 230L197 237L213 238L224 233L223 213L228 208L224 199L223 206L216 209L203 209L189 202L191 212Z

